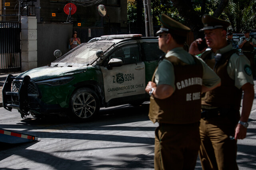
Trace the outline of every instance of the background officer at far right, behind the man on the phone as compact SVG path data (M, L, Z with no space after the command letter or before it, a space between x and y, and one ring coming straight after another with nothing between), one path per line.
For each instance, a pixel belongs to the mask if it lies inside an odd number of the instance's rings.
M250 31L244 30L244 37L240 38L238 48L242 50L242 53L250 61L253 78L256 78L254 64L254 47L256 47L256 40L250 36Z

